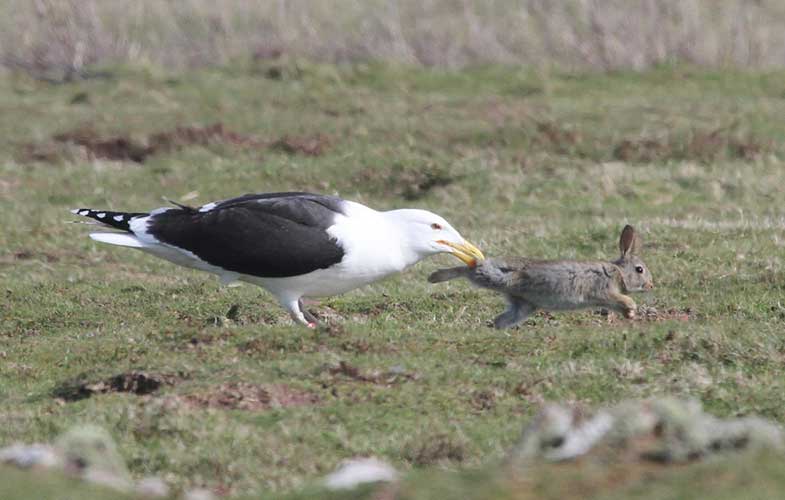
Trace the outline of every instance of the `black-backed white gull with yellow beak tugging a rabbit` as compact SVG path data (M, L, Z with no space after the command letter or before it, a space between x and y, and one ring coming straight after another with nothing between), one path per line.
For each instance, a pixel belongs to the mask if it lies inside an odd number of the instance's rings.
M315 328L304 298L338 295L430 255L449 253L473 267L485 257L442 217L419 209L377 211L337 196L246 194L198 208L71 213L122 232L90 233L181 266L243 281L272 293L292 319Z

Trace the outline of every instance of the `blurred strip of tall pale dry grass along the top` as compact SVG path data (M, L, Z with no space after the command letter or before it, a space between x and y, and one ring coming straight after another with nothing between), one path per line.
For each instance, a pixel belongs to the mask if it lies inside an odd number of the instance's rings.
M645 69L785 63L779 0L5 0L2 67L72 78L86 65L323 62Z

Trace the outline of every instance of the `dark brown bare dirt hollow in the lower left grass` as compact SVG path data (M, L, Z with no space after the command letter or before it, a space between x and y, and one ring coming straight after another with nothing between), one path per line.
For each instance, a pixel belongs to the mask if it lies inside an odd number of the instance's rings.
M55 388L53 395L65 401L79 401L96 394L111 392L128 392L143 396L152 394L165 385L174 385L181 378L181 375L142 371L119 373L97 381L85 381L83 377L77 377Z

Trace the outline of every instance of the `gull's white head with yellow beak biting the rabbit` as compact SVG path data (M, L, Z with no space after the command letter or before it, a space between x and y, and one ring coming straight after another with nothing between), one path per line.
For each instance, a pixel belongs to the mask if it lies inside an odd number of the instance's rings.
M466 241L444 218L427 210L402 209L387 212L401 228L408 249L417 260L437 253L450 253L474 267L485 259L479 248Z

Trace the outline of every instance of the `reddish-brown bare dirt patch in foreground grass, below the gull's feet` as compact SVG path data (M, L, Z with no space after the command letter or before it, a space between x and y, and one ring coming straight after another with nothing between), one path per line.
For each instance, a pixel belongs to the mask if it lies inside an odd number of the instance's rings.
M183 396L182 399L200 408L246 411L305 406L319 402L316 395L285 384L256 385L247 382L228 382L206 392Z

